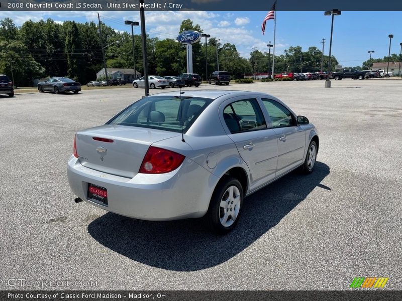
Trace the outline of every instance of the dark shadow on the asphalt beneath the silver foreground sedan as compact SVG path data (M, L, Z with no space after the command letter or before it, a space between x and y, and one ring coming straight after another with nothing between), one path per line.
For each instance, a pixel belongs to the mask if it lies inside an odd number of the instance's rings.
M202 219L171 222L137 221L107 213L88 225L89 234L105 247L132 260L174 271L213 267L234 257L277 225L330 173L317 162L312 174L292 172L245 199L236 228L214 235ZM324 189L331 189L324 186Z

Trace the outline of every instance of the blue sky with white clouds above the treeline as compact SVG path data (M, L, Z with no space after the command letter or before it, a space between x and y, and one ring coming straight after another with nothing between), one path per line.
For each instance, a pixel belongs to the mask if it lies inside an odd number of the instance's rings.
M269 9L269 8L268 8ZM205 33L235 44L243 57L249 57L253 47L267 52L266 44L273 43L272 20L267 22L265 35L261 34L261 22L267 11L261 12L146 12L147 33L160 39L177 36L181 21L193 20ZM124 20L140 21L138 12L99 12L101 20L117 31L131 32ZM20 26L31 19L52 18L57 22L97 22L97 12L2 12L0 19L12 18ZM320 50L326 39L324 53L328 55L331 17L324 12L277 12L276 50L283 54L289 46L301 46L304 51L310 46ZM139 34L139 28L136 34ZM402 12L342 12L335 16L332 54L344 66L359 66L369 59L367 51L374 50L373 58L388 55L389 38L393 34L391 53L400 52L402 43ZM272 50L271 50L272 51Z

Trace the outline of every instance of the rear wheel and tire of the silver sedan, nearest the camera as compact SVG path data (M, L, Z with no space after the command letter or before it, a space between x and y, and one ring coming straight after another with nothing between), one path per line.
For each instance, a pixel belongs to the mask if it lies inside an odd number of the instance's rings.
M233 230L240 218L243 197L239 180L223 178L215 188L205 216L209 228L218 234Z

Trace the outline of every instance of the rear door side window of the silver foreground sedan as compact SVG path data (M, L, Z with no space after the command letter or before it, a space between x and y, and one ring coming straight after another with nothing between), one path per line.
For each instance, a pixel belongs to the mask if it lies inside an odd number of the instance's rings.
M232 134L267 128L256 99L232 102L224 109L223 117Z

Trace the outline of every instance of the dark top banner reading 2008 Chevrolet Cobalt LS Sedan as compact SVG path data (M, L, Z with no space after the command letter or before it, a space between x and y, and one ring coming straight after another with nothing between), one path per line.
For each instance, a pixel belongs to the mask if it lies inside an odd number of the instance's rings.
M269 11L274 0L0 0L1 11ZM401 0L277 0L276 11L402 11Z

